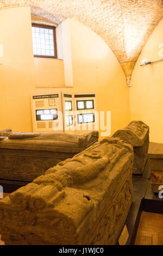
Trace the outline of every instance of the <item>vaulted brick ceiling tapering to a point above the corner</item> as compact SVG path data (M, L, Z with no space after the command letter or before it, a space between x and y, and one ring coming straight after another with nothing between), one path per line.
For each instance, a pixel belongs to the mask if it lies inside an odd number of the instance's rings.
M126 76L163 17L162 0L0 0L0 8L30 5L32 20L59 24L74 18L110 46Z

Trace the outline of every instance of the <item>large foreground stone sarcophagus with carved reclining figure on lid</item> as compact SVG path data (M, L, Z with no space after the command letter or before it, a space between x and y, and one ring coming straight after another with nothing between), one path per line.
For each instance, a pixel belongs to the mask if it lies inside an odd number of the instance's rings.
M133 147L106 137L0 201L6 245L116 245L132 202Z

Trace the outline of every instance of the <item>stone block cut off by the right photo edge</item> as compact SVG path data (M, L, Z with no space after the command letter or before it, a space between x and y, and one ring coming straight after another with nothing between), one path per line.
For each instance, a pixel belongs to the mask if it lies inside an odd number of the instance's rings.
M152 191L158 193L159 186L163 185L163 144L150 142L148 157L151 166Z

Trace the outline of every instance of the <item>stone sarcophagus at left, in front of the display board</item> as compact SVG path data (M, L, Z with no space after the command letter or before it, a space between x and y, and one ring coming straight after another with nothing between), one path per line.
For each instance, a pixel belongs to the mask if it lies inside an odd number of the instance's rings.
M97 131L83 136L0 131L0 179L32 181L97 141Z

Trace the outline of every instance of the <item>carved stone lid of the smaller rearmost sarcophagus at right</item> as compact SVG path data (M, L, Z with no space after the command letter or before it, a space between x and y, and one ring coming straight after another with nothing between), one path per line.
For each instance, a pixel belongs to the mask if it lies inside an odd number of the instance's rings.
M149 127L142 121L131 121L128 126L118 130L112 137L118 137L133 147L141 147L149 135Z

